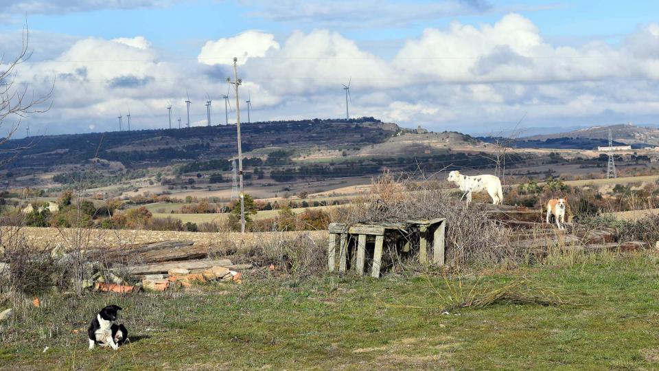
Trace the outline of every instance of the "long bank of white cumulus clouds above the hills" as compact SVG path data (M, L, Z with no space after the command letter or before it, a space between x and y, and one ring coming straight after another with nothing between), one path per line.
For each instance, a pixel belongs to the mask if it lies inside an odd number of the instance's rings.
M173 121L181 116L185 124L186 89L193 124L205 124L206 93L217 123L224 122L220 94L233 75L232 56L241 63L241 105L251 94L253 121L343 117L341 84L350 78L352 116L406 126L484 132L484 125L515 124L524 115L525 124L544 126L659 119L659 25L640 27L621 45L566 47L548 43L518 14L478 27L428 28L391 59L329 30L279 40L248 31L207 42L196 63L163 61L140 37L83 38L51 60L22 65L19 79L47 86L57 77L54 108L40 120L69 125L62 131L114 127L129 106L135 127L165 127L168 104Z

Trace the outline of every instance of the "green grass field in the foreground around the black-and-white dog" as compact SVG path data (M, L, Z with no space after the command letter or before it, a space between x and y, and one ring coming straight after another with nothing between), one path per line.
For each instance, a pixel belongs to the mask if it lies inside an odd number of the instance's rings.
M448 315L437 294L448 295L441 278L431 285L425 278L298 282L247 275L242 286L196 293L49 296L2 328L0 368L658 368L658 267L656 256L637 255L495 271L479 287L526 278L579 305L494 304ZM472 276L462 284L474 282ZM137 341L119 352L88 351L84 331L71 330L86 327L109 303L124 306L120 319Z

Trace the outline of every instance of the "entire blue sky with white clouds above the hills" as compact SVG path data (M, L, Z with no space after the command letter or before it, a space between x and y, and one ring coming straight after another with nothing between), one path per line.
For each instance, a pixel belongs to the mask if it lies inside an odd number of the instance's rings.
M0 71L25 23L13 87L54 91L17 137L185 126L188 95L224 124L233 57L242 122L345 117L350 82L350 117L432 131L659 123L654 1L0 0Z

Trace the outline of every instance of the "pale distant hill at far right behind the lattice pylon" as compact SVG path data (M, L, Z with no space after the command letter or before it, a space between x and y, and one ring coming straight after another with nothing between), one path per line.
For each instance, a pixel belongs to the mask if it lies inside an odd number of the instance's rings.
M547 139L559 138L595 139L598 142L605 141L603 143L608 144L609 130L612 131L614 141L618 143L632 144L634 146L659 146L659 128L652 126L636 126L633 124L590 126L588 128L581 128L566 133L533 135L521 139L526 141L546 141Z

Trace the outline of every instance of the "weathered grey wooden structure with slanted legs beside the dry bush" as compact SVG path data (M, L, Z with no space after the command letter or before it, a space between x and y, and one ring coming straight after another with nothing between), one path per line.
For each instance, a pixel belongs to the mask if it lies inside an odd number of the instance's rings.
M366 243L368 236L374 236L373 265L371 276L380 277L382 265L382 248L384 236L402 237L411 236L418 231L419 236L419 262L428 265L428 240L432 234L432 264L444 264L444 237L446 234L446 219L435 218L431 220L412 220L402 223L373 223L345 225L332 223L329 225L329 246L327 247L327 268L336 270L336 248L338 247L338 271L345 272L348 265L348 245L351 237L357 236L356 258L354 270L362 275L366 262ZM409 251L410 241L404 249Z

